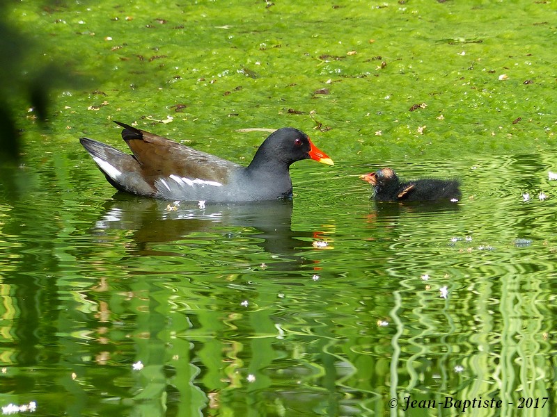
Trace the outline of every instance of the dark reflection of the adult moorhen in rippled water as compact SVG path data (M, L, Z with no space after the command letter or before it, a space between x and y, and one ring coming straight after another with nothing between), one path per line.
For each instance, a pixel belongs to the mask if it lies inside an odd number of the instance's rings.
M97 220L94 233L101 238L108 236L111 229L133 231L127 250L141 256L189 256L180 241L188 236L195 234L195 239L200 240L203 236L198 234L203 233L222 234L226 238L245 233L250 244L272 256L272 262L265 263L263 268L292 271L301 265L313 265L318 269L317 261L306 259L302 252L323 245L324 240L320 238L323 232L293 231L292 210L291 200L199 204L116 193L105 204L105 212ZM314 244L308 240L313 240ZM175 250L157 249L161 243L176 243Z

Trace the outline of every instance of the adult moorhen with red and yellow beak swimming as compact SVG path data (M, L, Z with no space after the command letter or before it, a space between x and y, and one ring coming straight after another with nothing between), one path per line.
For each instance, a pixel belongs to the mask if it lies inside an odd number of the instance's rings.
M308 136L293 128L274 131L247 167L116 122L133 155L80 138L111 185L136 195L208 202L292 197L288 167L301 159L333 165Z

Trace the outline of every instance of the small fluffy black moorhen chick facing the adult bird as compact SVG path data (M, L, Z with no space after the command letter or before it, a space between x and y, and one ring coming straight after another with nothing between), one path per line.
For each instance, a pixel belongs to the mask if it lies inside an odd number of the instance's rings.
M462 196L460 181L457 179L423 178L402 181L391 168L360 175L360 179L371 184L374 197L379 202L457 202Z

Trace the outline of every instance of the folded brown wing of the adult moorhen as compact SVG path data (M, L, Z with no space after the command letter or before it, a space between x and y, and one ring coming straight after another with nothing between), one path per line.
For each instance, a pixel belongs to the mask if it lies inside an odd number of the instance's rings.
M141 165L150 183L161 177L178 175L226 183L228 175L240 165L226 161L148 131L116 122L124 128L122 138Z

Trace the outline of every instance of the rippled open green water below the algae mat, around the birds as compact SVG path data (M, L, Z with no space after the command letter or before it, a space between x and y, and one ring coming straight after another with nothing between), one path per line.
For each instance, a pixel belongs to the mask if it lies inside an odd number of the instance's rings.
M507 403L551 397L554 378L556 160L307 161L293 202L205 208L114 193L85 154L62 186L20 169L31 185L2 205L3 397L45 414L362 416L482 396L505 406L478 415L521 415ZM458 176L462 201L375 204L356 174L384 163Z

